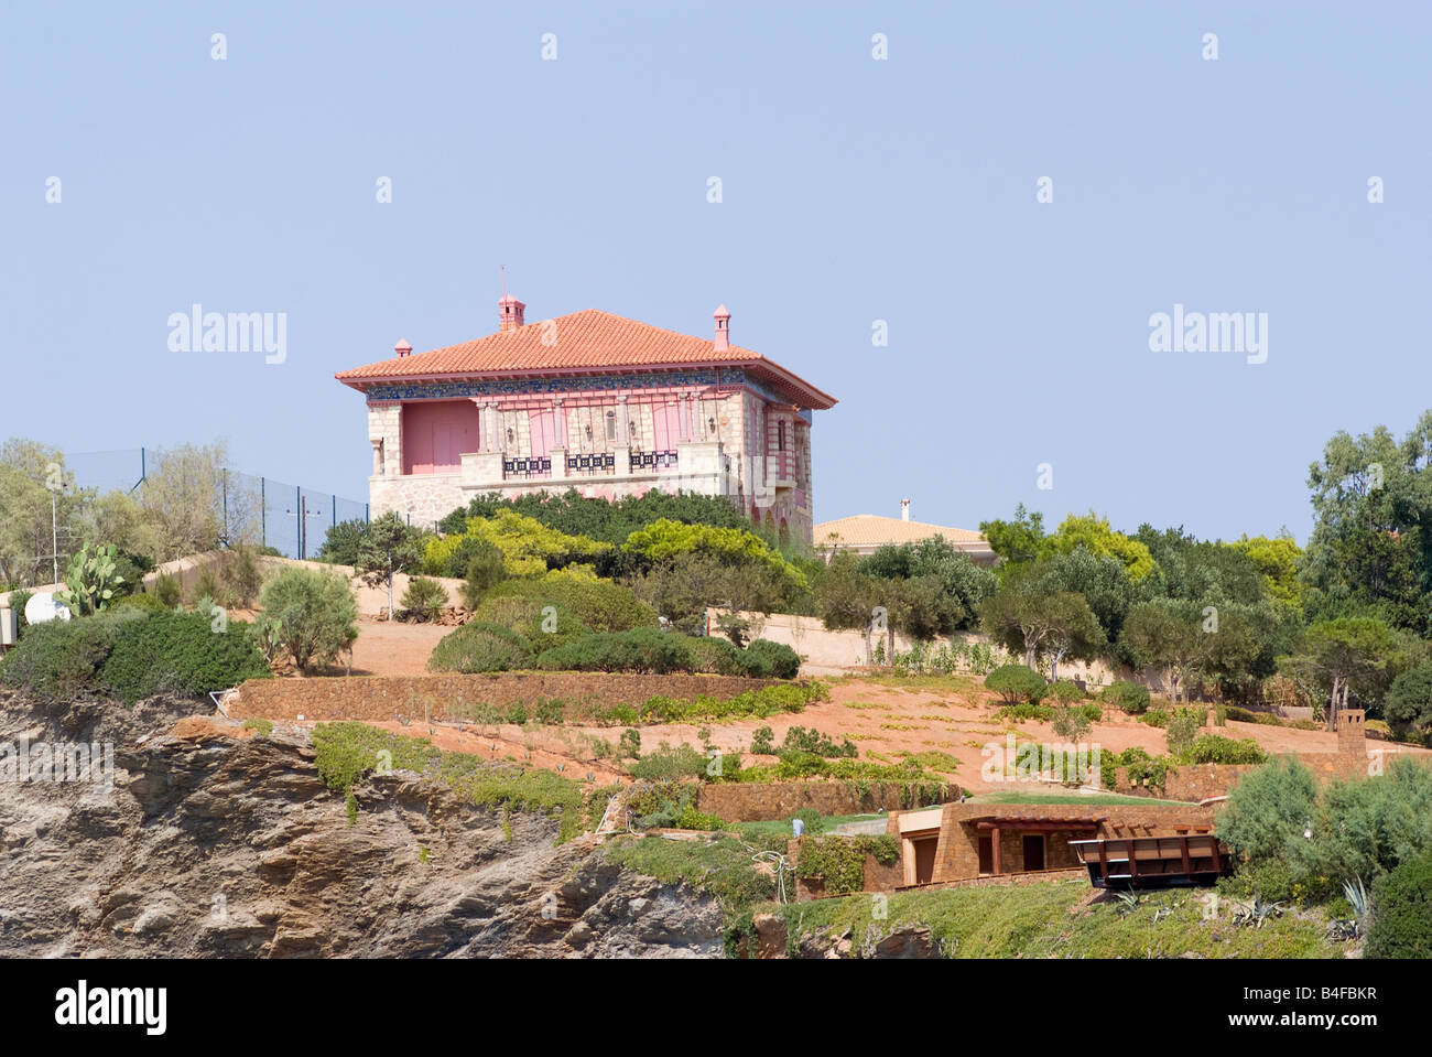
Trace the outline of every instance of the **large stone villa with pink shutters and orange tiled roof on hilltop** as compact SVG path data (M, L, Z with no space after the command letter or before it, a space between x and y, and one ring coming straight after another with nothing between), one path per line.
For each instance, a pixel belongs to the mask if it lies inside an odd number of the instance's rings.
M835 398L730 344L730 312L693 338L586 309L526 322L498 302L485 338L335 375L368 401L372 514L431 524L474 496L652 488L725 496L811 541L811 424Z

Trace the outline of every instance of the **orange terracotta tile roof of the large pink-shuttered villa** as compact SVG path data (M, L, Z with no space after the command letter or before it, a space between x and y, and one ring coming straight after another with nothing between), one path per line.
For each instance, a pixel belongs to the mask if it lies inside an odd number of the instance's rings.
M802 407L828 408L835 404L833 397L759 352L739 345L717 351L712 339L693 338L596 308L498 331L461 345L382 359L334 377L345 385L367 388L375 382L432 377L726 364L748 367L776 382L783 395Z

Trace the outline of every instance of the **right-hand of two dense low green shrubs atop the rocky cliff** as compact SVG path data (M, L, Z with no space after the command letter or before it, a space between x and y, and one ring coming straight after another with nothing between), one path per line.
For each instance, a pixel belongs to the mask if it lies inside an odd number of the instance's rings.
M156 693L203 698L271 672L252 626L156 610L119 626L103 682L126 705Z

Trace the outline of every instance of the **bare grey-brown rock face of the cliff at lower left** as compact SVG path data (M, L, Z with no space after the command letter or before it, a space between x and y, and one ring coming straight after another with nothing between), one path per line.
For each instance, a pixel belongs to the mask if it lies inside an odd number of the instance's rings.
M557 845L553 819L397 772L355 786L349 825L304 730L208 712L0 690L0 745L115 745L112 788L0 782L0 957L722 954L713 898Z

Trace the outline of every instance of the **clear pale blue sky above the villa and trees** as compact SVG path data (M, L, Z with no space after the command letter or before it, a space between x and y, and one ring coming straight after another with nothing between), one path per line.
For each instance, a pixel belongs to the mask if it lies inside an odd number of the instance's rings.
M1306 540L1323 443L1432 407L1426 4L129 7L0 16L0 437L364 498L334 372L495 329L500 265L528 319L725 302L841 398L819 520ZM286 362L170 352L193 302L286 312ZM1176 302L1267 362L1150 352Z

